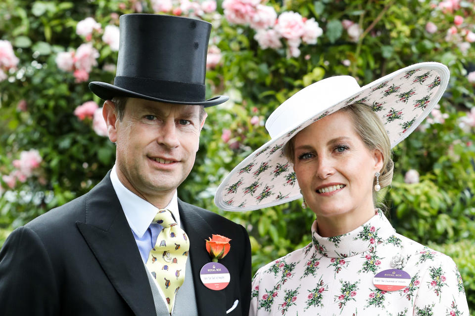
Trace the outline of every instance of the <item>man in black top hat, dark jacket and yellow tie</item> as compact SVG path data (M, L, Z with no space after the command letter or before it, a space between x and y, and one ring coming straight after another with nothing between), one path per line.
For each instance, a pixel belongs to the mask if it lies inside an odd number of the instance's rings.
M203 107L228 99L204 98L210 29L188 18L121 16L114 85L90 83L106 100L115 165L88 194L8 237L0 315L247 315L246 231L177 198L198 150ZM200 276L212 235L231 239L212 264L229 271L214 289Z

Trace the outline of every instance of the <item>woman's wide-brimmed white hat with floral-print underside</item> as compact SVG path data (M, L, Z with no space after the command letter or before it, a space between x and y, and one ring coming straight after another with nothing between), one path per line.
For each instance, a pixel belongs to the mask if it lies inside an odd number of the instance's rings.
M391 148L427 117L449 81L445 65L419 63L360 87L353 77L336 76L295 93L267 119L271 140L242 160L218 187L215 204L228 211L274 206L302 197L283 147L306 126L339 109L362 103L383 122Z

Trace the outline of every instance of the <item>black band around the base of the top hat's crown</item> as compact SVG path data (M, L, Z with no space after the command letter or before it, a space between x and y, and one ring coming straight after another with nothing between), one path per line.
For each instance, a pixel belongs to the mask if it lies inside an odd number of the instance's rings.
M149 97L178 102L202 102L206 85L179 81L117 76L114 85Z

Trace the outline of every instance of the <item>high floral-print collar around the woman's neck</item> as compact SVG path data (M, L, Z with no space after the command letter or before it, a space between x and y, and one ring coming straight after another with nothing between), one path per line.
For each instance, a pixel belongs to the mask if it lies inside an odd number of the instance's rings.
M330 258L346 258L365 251L373 251L380 243L396 232L378 209L375 216L357 229L335 237L318 235L318 225L312 225L312 242L317 251Z

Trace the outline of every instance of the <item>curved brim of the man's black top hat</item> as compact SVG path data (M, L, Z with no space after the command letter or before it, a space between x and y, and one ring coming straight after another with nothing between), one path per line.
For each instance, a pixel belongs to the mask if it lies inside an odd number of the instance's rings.
M139 99L158 101L158 102L164 102L164 103L203 105L205 108L218 105L229 100L229 97L226 95L218 95L211 99L204 100L204 101L197 101L197 102L196 101L189 102L189 101L168 100L165 98L157 98L157 97L152 97L149 95L137 93L131 90L127 90L127 89L112 85L110 83L100 82L100 81L90 82L89 89L95 95L97 95L99 98L103 100L111 100L114 97L131 97L131 98L139 98Z

